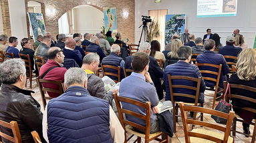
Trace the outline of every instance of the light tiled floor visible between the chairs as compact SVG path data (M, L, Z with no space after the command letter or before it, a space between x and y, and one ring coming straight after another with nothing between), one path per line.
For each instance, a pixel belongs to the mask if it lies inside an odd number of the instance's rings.
M35 92L33 94L33 97L41 104L41 111L43 111L43 104L42 104L42 101L41 101L41 95L40 95L40 92L39 92L39 88L38 86L35 86L36 85L36 82L34 81L33 82L33 86L32 86L32 90ZM28 85L29 86L29 85ZM29 87L27 87L27 89L30 90ZM213 94L212 91L206 91L205 94ZM206 108L211 108L211 103L213 102L213 97L211 96L205 96L205 104L204 106ZM211 116L209 114L204 114L204 121L207 121L207 122L211 122L211 123L216 123L215 120L213 120L211 118ZM178 118L178 123L176 123L176 126L177 126L177 132L174 134L174 136L172 136L171 140L172 140L172 143L180 143L180 142L185 142L184 140L184 132L183 132L183 125L182 125L182 120L181 118ZM250 130L251 130L251 134L253 132L253 126L250 126ZM237 130L240 130L241 132L243 132L243 127L242 127L242 124L241 123L238 123L237 124ZM132 143L134 142L134 140L136 140L136 136L134 136L130 141L129 143ZM144 140L142 140L142 142L144 142ZM152 143L154 143L155 141L152 141ZM251 138L246 138L244 135L242 134L237 134L237 136L235 137L235 142L236 143L243 143L243 142L251 142Z

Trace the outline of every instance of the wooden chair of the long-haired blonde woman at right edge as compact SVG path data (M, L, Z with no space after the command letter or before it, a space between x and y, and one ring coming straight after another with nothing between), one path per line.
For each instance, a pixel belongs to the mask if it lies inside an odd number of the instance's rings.
M233 89L242 89L242 90L247 90L247 91L250 91L250 92L254 92L253 94L256 94L256 88L255 87L251 87L251 86L245 86L245 85L241 85L241 84L230 84L230 88ZM227 82L225 81L224 82L224 90L227 89ZM226 100L227 102L229 102L229 100L232 100L232 99L237 99L237 100L246 100L248 102L253 102L254 104L256 103L256 99L255 98L249 98L247 96L241 96L241 95L238 95L238 94L231 94L230 96L226 96ZM254 108L251 108L251 107L238 107L238 106L233 106L235 108L239 108L240 110L247 110L249 112L253 112L256 114L256 110ZM256 137L256 121L253 120L252 122L250 122L250 124L252 124L254 126L253 128L253 135L249 135L249 134L245 134L243 132L239 132L236 130L237 128L237 121L238 122L245 122L242 118L239 117L239 115L235 114L235 117L233 119L233 128L232 128L232 132L233 132L233 136L236 135L236 132L239 133L239 134L243 134L243 135L246 135L246 136L250 136L252 139L251 139L251 142L255 142L255 137Z

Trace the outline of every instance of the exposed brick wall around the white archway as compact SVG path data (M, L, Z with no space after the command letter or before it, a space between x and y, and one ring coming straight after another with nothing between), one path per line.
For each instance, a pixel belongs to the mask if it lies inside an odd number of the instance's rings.
M25 1L25 7L27 8L27 1ZM53 37L58 34L58 19L66 13L68 10L78 5L92 5L97 9L103 11L104 7L116 7L116 15L118 21L118 32L121 32L123 37L129 39L129 43L134 42L134 0L33 0L41 3L42 13L45 15L46 30L51 32ZM3 13L3 28L4 32L9 35L11 28L8 23L9 8L8 0L1 0L2 13ZM55 9L55 15L49 15L46 9ZM128 11L129 15L127 19L122 16L122 11ZM92 13L93 15L93 13ZM86 17L85 17L86 19ZM28 21L27 21L28 22ZM29 33L29 32L28 32ZM82 33L84 34L84 33Z

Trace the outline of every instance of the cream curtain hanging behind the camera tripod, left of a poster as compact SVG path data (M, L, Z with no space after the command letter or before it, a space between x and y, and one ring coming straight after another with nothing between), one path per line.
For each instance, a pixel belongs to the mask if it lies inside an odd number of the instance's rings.
M164 35L165 35L165 15L168 15L168 9L160 9L160 10L150 10L148 11L148 15L154 19L154 21L158 21L159 29L160 29L160 37L158 37L157 41L159 41L161 45L161 51L164 51Z

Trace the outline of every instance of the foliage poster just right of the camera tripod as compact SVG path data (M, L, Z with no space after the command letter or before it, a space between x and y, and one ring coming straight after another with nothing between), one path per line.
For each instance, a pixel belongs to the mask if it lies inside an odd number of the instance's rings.
M166 15L165 45L170 43L172 35L181 35L185 31L186 15Z

